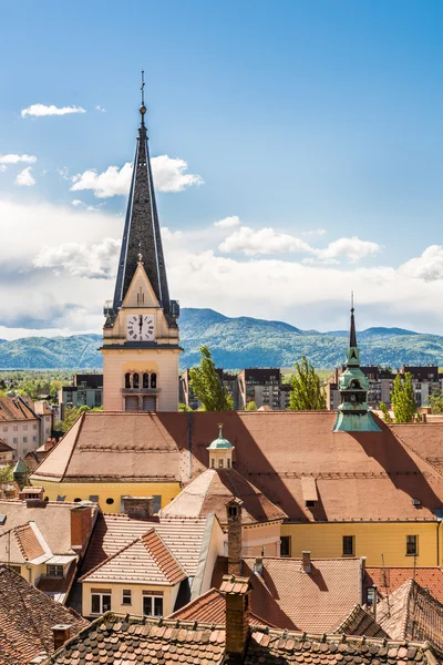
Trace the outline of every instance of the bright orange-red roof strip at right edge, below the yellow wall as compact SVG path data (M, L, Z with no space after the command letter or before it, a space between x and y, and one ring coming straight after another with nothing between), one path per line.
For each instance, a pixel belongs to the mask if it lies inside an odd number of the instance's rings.
M373 567L368 566L365 586L377 586L379 596L384 597L402 586L408 580L415 580L423 589L443 603L443 571L441 567Z

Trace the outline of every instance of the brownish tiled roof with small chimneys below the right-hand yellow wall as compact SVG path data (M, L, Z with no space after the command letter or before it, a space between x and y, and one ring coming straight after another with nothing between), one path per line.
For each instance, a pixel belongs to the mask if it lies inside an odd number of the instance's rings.
M255 559L244 559L241 576L250 576L253 612L279 628L327 633L362 602L361 559L312 559L309 574L300 559L262 561L258 575ZM227 559L219 556L212 585L218 589L226 573Z

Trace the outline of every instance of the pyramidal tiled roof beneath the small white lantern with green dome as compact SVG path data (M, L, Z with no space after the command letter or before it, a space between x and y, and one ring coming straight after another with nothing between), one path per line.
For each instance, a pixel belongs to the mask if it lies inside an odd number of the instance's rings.
M227 525L226 505L241 499L244 524L284 520L287 515L235 469L207 469L162 509L165 516L206 518L215 513Z

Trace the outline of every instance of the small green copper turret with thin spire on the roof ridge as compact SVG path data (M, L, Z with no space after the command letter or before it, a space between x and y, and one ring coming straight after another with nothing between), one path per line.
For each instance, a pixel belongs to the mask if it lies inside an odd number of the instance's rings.
M360 354L357 346L353 298L351 305L351 327L347 350L346 369L339 378L340 405L334 432L380 432L368 407L369 381L360 369Z

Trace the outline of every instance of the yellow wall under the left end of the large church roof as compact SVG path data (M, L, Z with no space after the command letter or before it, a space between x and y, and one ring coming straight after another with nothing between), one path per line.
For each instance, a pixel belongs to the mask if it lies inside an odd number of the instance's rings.
M122 497L162 497L162 508L169 503L182 490L179 482L49 482L31 480L35 487L44 487L44 497L56 501L58 497L65 497L65 501L90 501L91 497L99 497L99 504L103 512L123 512ZM113 502L107 503L110 499Z

